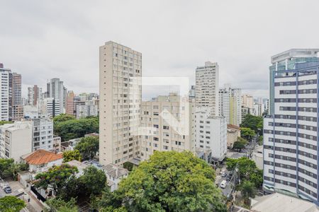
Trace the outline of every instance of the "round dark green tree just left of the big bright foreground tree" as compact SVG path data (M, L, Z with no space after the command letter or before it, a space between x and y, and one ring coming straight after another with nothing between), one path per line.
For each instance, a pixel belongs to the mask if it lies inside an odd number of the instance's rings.
M81 193L85 196L96 196L102 193L106 187L106 175L103 170L98 170L93 165L86 167L84 173L79 177Z

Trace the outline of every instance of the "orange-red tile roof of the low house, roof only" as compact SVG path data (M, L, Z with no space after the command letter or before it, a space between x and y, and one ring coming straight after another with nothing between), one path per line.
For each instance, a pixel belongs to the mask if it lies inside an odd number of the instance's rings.
M43 149L39 149L35 151L34 153L31 153L26 157L26 163L33 164L33 165L40 165L40 164L46 164L51 161L62 159L63 155L55 154L49 151L45 151Z

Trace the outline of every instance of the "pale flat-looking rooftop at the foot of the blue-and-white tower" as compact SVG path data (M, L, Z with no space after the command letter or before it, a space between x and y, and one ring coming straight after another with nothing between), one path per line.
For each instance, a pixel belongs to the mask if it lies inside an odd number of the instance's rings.
M303 199L274 193L252 199L252 211L256 212L318 212L318 207Z

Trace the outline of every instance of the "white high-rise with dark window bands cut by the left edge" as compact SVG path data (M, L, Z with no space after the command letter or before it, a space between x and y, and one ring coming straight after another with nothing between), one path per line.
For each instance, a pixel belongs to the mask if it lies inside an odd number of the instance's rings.
M1 121L9 121L9 76L11 74L11 70L4 69L4 65L0 64L0 74L1 74L0 119Z

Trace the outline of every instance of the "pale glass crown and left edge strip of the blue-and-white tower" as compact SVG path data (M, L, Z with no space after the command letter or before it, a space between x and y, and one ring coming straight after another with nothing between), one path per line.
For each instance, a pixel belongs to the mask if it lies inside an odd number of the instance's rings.
M319 62L319 49L289 49L272 56L269 66L269 114L274 114L274 78L275 71L298 69L298 64L307 63L309 66Z

